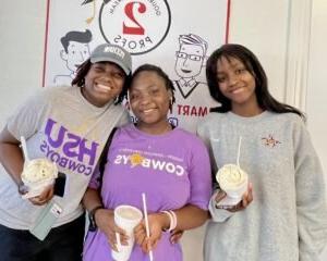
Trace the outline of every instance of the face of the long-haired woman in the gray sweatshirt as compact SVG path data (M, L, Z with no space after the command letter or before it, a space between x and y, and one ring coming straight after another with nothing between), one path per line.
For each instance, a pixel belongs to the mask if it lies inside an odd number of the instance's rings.
M255 78L240 60L221 57L217 61L217 80L221 94L231 100L233 112L243 114L261 110L255 94Z

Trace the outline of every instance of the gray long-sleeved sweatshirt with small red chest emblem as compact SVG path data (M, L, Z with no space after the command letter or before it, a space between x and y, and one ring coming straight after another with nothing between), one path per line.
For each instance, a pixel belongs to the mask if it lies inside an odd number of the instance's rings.
M294 113L242 117L210 113L198 135L216 171L237 163L253 184L253 202L242 211L209 210L205 261L319 260L327 241L324 174L303 121ZM215 196L215 195L214 195Z

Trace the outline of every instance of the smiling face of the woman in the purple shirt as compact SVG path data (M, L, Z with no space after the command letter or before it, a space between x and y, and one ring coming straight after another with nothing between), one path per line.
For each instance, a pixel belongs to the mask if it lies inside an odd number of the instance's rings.
M132 82L130 105L140 128L167 128L171 90L156 72L143 71ZM156 133L156 132L155 132Z

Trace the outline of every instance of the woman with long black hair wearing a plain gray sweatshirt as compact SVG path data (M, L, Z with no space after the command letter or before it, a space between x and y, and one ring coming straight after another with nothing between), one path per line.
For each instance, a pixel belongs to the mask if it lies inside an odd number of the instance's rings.
M220 102L198 125L213 170L237 163L250 185L240 203L209 203L205 261L315 261L327 241L324 173L298 109L268 91L259 61L241 45L223 45L206 64L211 97Z

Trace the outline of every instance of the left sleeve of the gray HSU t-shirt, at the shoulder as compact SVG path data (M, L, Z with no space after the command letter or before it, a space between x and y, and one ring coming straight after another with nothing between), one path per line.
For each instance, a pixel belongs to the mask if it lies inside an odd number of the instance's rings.
M17 139L32 137L40 127L40 119L49 103L45 90L37 92L20 105L7 122L8 130Z

